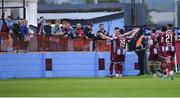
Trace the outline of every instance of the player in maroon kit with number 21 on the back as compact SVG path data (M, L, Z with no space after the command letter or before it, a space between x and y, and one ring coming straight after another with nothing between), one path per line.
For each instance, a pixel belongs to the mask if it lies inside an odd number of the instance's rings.
M163 34L163 44L165 48L164 56L167 64L167 74L174 79L174 54L175 54L175 41L177 39L176 33L173 30L172 24L167 25L167 31Z

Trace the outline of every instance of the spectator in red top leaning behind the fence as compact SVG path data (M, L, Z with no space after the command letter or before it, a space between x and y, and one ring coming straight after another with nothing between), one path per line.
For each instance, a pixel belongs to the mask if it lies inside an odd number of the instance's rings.
M81 26L81 23L76 24L75 37L84 37L84 30Z

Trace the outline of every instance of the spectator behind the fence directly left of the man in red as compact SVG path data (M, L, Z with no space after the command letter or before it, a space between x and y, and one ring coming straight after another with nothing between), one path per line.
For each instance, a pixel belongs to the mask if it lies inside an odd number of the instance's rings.
M73 28L70 26L69 22L65 24L64 37L73 38Z

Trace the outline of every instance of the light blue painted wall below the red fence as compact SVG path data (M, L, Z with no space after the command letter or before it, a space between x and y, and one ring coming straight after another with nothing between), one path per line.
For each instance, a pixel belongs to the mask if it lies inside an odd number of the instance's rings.
M0 79L44 77L105 77L109 75L109 52L46 52L0 54ZM45 59L52 59L52 71L46 71ZM98 59L105 69L99 70ZM127 52L124 75L137 75L135 53Z

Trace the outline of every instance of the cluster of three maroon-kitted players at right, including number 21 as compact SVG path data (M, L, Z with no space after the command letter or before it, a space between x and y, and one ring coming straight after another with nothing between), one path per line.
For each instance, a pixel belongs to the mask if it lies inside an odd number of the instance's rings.
M157 77L154 64L158 62L158 75L164 78L170 76L172 80L174 79L175 42L177 40L171 24L163 26L160 32L157 32L155 28L151 29L149 61L153 77Z

